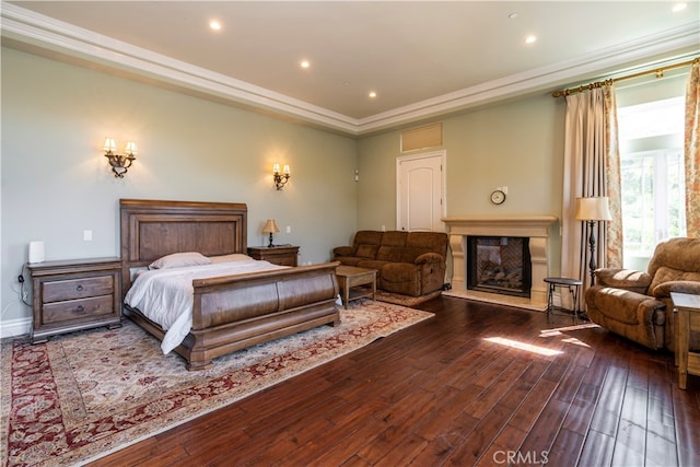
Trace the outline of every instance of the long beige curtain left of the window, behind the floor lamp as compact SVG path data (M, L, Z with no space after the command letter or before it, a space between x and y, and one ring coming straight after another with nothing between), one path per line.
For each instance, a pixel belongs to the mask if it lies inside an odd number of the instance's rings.
M575 200L593 196L609 197L612 215L612 221L596 222L593 226L596 265L621 267L620 163L611 81L567 95L561 271L562 276L583 280L583 290L591 285L587 244L591 232L587 222L575 219Z

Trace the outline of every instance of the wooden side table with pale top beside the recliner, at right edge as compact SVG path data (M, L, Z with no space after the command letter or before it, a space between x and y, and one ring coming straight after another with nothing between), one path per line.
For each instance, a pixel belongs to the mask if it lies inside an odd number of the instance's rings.
M700 351L690 351L690 332L700 331L700 295L670 292L675 318L678 320L676 352L678 354L678 387L686 388L688 374L700 376Z

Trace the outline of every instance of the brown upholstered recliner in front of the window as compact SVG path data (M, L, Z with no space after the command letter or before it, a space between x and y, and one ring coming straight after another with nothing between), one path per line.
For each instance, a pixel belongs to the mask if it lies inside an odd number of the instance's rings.
M656 246L646 272L602 268L586 290L591 320L650 349L675 351L670 292L700 294L700 238L670 238ZM700 349L700 335L690 336Z

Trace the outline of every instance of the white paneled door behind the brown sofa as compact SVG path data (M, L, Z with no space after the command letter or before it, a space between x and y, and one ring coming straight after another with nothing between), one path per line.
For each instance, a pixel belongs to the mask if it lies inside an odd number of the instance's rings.
M396 160L398 230L444 231L444 151Z

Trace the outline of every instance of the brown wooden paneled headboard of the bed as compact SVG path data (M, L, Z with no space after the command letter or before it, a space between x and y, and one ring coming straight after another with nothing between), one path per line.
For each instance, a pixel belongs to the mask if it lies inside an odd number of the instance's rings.
M246 253L248 208L238 202L119 200L122 294L132 268L172 253Z

